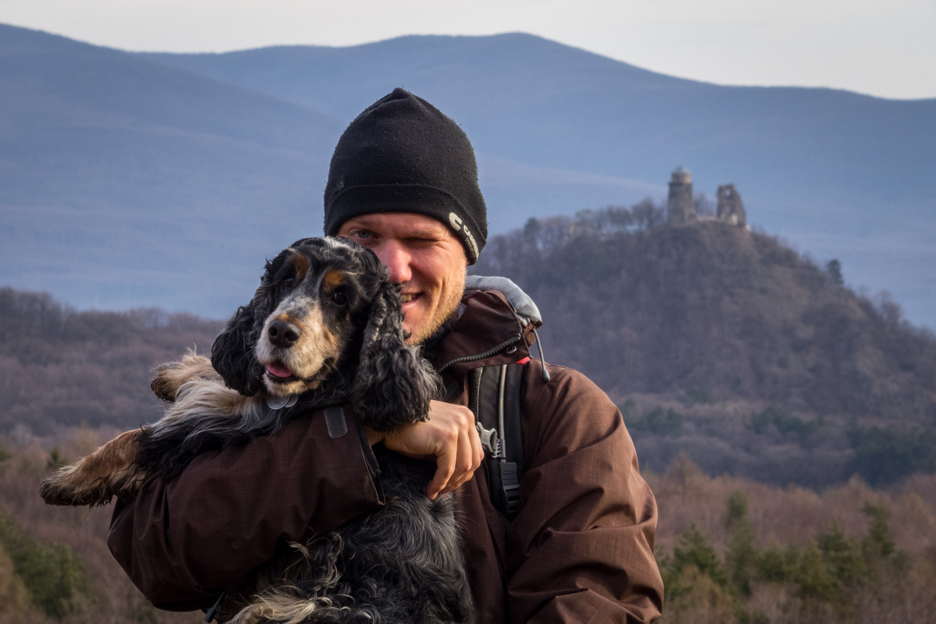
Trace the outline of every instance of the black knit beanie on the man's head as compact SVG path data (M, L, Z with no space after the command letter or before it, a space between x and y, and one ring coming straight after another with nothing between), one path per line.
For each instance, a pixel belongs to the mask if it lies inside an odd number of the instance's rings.
M469 264L488 239L471 142L439 109L403 89L360 113L331 156L325 233L334 236L351 217L373 212L417 212L451 226Z

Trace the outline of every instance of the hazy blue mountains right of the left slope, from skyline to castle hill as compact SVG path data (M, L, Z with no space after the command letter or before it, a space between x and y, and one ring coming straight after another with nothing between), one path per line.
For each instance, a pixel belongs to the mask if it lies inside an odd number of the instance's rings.
M936 99L681 80L519 33L146 56L345 120L426 97L480 152L494 231L659 198L678 165L709 196L733 181L755 225L936 327Z

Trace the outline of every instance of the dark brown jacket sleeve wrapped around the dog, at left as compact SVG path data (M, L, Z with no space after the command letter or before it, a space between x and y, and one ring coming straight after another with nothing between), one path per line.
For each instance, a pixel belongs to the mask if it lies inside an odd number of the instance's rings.
M334 529L382 504L357 419L330 438L321 411L271 436L196 457L172 481L151 479L118 501L108 545L159 608L211 606L270 560L277 544Z

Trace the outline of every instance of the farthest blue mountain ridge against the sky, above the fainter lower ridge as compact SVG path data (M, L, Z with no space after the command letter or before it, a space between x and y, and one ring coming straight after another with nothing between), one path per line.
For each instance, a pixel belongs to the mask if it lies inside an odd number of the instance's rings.
M681 163L702 188L870 209L936 195L936 100L724 87L520 33L143 56L346 120L403 86L533 167L662 184Z

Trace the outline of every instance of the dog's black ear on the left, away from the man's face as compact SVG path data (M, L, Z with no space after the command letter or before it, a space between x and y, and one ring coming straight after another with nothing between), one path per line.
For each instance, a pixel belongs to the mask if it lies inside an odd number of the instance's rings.
M266 276L250 304L241 306L212 344L212 367L227 387L253 397L263 387L263 367L256 359L256 339L270 313Z

